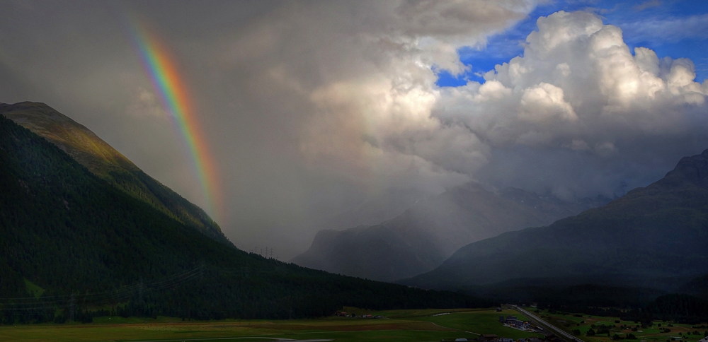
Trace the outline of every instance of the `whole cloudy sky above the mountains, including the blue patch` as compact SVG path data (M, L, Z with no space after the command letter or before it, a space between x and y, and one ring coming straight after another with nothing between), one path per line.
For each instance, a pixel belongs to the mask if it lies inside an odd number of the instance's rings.
M708 148L704 1L0 8L0 102L72 117L237 247L280 259L318 230L375 224L466 182L612 197ZM188 124L154 82L147 41L178 76Z

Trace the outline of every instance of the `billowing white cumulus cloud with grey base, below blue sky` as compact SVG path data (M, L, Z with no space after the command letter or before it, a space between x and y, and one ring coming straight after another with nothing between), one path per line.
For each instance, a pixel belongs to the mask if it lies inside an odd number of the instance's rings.
M695 82L692 61L632 52L622 30L593 13L560 11L537 25L522 56L497 65L484 83L444 88L433 110L481 141L489 163L468 170L476 179L611 194L708 148L707 87Z

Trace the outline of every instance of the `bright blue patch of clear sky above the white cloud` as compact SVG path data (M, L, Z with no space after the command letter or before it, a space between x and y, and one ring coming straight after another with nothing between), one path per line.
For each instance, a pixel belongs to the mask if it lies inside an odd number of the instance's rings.
M624 42L634 47L653 49L659 58L688 58L696 66L696 81L708 79L708 1L642 0L593 1L568 0L538 6L527 18L498 35L489 37L486 47L458 49L460 61L469 70L459 76L438 71L440 87L464 86L468 81L484 83L481 77L497 64L523 54L527 35L537 30L536 20L557 11L592 11L605 24L622 29Z

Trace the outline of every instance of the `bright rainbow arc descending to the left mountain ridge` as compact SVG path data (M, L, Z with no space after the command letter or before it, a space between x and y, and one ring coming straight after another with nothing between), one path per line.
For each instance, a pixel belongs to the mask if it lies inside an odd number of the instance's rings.
M169 50L159 37L137 20L130 21L133 43L140 54L144 70L188 149L193 170L202 187L207 212L212 217L222 217L222 194L218 184L217 166L200 128L185 82L180 77Z

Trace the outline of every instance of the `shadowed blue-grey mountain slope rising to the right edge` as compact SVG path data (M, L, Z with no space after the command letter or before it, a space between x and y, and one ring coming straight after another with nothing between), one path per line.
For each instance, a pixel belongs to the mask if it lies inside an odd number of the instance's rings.
M658 288L708 273L707 242L708 150L605 206L468 244L401 283L452 289L575 280Z

